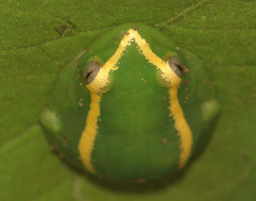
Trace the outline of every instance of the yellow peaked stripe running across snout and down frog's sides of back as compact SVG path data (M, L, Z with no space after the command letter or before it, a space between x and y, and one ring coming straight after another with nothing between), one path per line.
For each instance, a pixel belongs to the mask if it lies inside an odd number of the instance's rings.
M175 128L178 131L178 135L181 139L179 167L183 168L191 155L192 132L186 122L183 111L178 102L178 85L180 84L181 79L175 74L175 72L173 72L173 70L170 70L168 62L164 62L161 58L154 54L146 40L141 38L139 32L133 29L129 29L127 33L129 34L124 35L116 52L114 55L112 55L112 57L110 57L105 65L103 65L103 68L100 69L97 77L95 77L95 79L86 86L91 92L91 104L90 110L86 117L86 126L83 133L81 134L80 142L78 145L78 150L80 152L83 164L85 165L85 168L88 169L88 171L95 173L95 169L91 160L91 154L98 132L97 123L98 117L100 116L100 100L103 93L106 92L101 89L104 89L104 87L109 83L109 71L118 69L116 66L117 62L122 57L126 47L131 44L131 41L134 41L139 46L142 54L145 56L148 62L154 64L163 72L163 79L166 80L166 82L169 84L170 116L172 116L175 121Z

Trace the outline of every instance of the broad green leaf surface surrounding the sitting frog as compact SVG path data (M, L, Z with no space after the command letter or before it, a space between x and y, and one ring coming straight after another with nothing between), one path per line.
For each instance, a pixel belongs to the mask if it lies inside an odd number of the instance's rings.
M254 0L50 1L0 5L0 200L232 200L256 197ZM115 184L54 155L38 125L57 72L110 28L158 26L197 55L222 104L202 154L175 178Z

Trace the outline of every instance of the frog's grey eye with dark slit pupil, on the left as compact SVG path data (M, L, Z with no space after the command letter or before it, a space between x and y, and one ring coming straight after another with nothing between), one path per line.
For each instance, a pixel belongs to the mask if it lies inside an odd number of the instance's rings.
M85 68L83 70L83 77L85 78L85 84L90 84L98 74L99 70L100 70L100 64L98 62L90 61L87 64L85 64Z

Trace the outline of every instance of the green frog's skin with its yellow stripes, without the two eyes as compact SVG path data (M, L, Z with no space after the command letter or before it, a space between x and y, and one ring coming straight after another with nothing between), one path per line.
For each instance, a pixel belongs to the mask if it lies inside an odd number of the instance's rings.
M178 77L168 59L186 66ZM101 65L90 84L84 66ZM205 144L219 112L202 62L142 23L97 39L61 70L40 121L61 157L117 181L174 173Z

